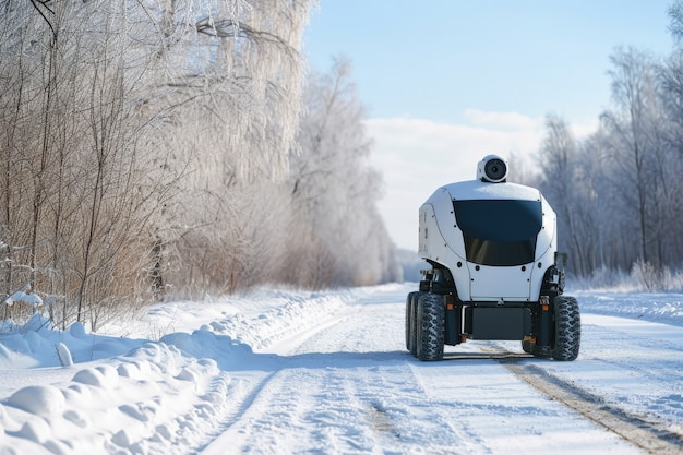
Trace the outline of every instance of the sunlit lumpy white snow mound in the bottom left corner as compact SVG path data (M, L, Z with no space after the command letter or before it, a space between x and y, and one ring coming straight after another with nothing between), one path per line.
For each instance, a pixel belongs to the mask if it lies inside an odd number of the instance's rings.
M194 430L225 417L229 383L215 360L144 343L64 384L17 390L0 405L2 445L35 454L148 453L152 441L196 446L206 435Z

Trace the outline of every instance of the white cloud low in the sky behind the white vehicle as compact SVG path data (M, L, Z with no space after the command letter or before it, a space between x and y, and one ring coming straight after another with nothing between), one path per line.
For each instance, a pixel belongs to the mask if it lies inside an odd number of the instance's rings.
M417 251L420 205L441 185L474 179L486 155L507 157L514 152L516 161L534 163L543 119L474 109L466 118L468 124L412 118L367 121L374 140L371 165L384 179L380 212L399 248ZM588 125L579 131L588 131Z

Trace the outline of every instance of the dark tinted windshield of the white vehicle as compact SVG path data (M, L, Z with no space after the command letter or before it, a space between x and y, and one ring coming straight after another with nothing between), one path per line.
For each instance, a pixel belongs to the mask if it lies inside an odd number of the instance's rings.
M542 226L540 201L453 201L453 208L467 261L499 266L534 262Z

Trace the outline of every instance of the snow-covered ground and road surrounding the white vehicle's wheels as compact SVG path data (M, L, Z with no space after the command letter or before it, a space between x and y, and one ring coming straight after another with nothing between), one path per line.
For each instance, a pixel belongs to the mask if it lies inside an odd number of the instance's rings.
M518 343L417 361L416 286L165 303L98 334L5 323L0 454L646 453L486 355ZM683 434L683 295L567 294L578 359L511 361Z

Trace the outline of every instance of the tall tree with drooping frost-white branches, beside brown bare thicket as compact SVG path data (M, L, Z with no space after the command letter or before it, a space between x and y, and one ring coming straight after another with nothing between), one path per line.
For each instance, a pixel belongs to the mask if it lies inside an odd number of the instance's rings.
M187 45L163 56L183 62L166 64L175 72L163 103L169 111L165 141L185 176L159 228L165 280L193 295L273 279L269 264L284 237L272 228L283 226L275 188L296 148L301 36L312 2L207 3L205 12L188 16L173 2L163 14L165 36L182 34L188 22L193 31Z

